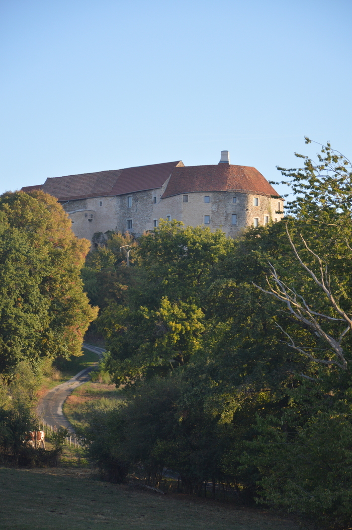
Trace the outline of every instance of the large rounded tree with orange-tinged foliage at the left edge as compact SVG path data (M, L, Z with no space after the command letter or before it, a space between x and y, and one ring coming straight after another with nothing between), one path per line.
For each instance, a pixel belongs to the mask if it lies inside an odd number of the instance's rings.
M22 360L80 355L97 313L80 269L89 242L77 239L54 197L42 191L0 197L0 372Z

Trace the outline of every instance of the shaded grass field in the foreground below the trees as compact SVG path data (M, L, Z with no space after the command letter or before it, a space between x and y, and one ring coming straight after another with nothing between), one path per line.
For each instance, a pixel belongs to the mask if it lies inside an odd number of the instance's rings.
M0 469L2 530L298 530L257 510L106 484L65 470ZM47 472L48 473L48 472ZM60 474L61 473L61 474Z

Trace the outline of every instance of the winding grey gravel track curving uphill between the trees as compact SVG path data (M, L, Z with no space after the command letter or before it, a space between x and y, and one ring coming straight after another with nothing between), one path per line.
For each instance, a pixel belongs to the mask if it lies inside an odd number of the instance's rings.
M83 347L86 350L93 351L99 357L102 357L103 352L106 351L103 348L98 348L97 346L92 346L86 343L83 344ZM89 366L88 368L81 370L81 372L74 377L71 377L69 381L51 388L38 404L37 413L39 417L52 427L65 427L69 432L74 432L73 426L65 418L64 413L62 412L62 405L64 405L69 394L75 390L77 386L83 385L83 383L89 381L89 372L91 372L93 368L94 366Z

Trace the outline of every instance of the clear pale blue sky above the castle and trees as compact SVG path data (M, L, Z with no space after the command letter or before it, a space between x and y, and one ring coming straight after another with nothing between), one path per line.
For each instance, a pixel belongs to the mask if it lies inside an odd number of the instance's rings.
M183 160L352 157L350 0L1 0L0 192ZM282 191L282 189L278 189Z

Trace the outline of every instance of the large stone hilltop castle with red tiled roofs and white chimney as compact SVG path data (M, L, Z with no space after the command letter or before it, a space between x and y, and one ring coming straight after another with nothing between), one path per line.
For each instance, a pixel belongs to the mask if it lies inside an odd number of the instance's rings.
M227 151L216 165L182 161L48 178L42 189L57 198L77 237L129 231L140 235L158 220L221 228L235 237L243 228L276 221L284 201L255 167L230 164Z

